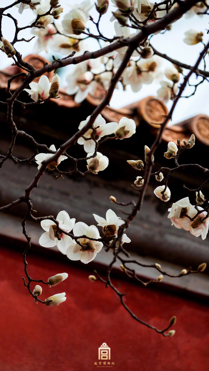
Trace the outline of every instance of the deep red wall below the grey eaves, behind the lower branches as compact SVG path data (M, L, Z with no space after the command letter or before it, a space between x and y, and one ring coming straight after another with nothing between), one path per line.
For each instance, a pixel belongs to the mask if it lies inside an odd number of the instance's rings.
M66 264L40 256L27 260L33 278L47 280L67 272L67 280L44 287L42 293L43 300L65 291L67 300L58 307L36 305L23 286L21 254L0 249L1 371L97 370L94 362L98 364L103 342L111 348L111 370L209 370L206 305L115 279L121 291L129 292L127 304L144 321L164 328L177 316L176 334L163 337L131 319L111 289L88 280L87 270L69 266L67 259Z

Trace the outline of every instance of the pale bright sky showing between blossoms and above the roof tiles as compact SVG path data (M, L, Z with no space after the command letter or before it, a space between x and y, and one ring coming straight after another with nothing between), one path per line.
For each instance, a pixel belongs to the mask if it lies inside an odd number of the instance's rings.
M94 4L94 1L91 0ZM10 3L12 3L12 0L0 0L1 7L4 7ZM74 0L60 0L61 6L64 8L63 14L67 13L71 7L69 4L78 4L82 1L74 1ZM108 12L104 14L104 16L101 18L100 23L100 30L102 33L104 33L107 37L114 36L114 22L110 22L109 19L111 17L111 12L115 10L115 8L112 6L111 0L109 1L110 5L108 8ZM35 19L35 14L30 9L25 9L22 14L18 13L18 9L16 7L13 7L13 9L8 11L10 14L12 14L19 23L19 26L25 26L29 22L32 22ZM59 24L61 24L61 20L63 17L63 14L61 18L56 21ZM98 19L98 13L95 10L95 6L92 7L92 10L90 11L91 16L97 20ZM107 23L108 22L108 23ZM189 29L196 29L198 32L202 31L204 33L203 41L206 43L208 42L208 35L207 35L207 29L209 22L209 17L199 17L197 15L186 19L185 16L182 17L182 19L178 20L176 23L172 24L172 30L167 31L163 35L158 34L155 35L152 38L152 45L161 53L166 53L168 56L170 56L173 59L178 59L180 62L194 65L199 53L203 49L203 45L201 43L196 45L186 45L183 42L184 38L184 32L186 32ZM96 32L94 25L91 21L88 21L86 24L87 27L91 27L92 32ZM92 27L93 26L93 27ZM12 19L9 19L8 17L3 17L3 36L11 41L14 36L14 24ZM20 38L25 37L25 39L29 39L32 37L30 30L24 30L21 34L19 34ZM29 55L30 53L33 53L33 47L35 45L35 39L33 39L30 43L26 42L20 42L19 45L15 45L16 48L19 50L20 53L22 53L23 58L26 55ZM86 50L96 50L98 49L98 43L93 40L93 42L88 41L88 45L86 45ZM39 53L43 57L52 60L52 54L55 55L58 58L63 58L63 55L60 56L56 54L55 52L50 52L48 50L48 53L45 51L42 51ZM0 54L0 69L6 68L10 64L11 60L7 58L7 56L4 53ZM206 56L206 65L209 65L209 56ZM168 61L163 62L162 69L170 66L171 63ZM67 66L64 69L62 69L60 76L62 81L62 87L66 86L66 75L69 73L69 69L71 66ZM203 62L200 64L199 68L203 69ZM209 68L209 67L208 67ZM187 73L187 70L184 70L184 73ZM196 83L196 76L194 75L190 79L190 83ZM197 91L194 96L191 96L190 98L181 98L177 104L176 109L174 110L172 123L176 124L180 121L183 121L186 118L195 116L197 114L206 114L209 115L209 105L208 105L208 81L205 81L203 84L198 86ZM156 96L157 89L160 88L159 83L152 83L150 85L143 85L142 89L137 92L133 93L130 86L127 86L126 91L123 91L122 87L120 89L115 89L114 94L112 96L111 100L111 106L113 108L121 108L123 106L126 106L128 104L131 104L133 102L139 101L140 99L145 98L146 96L153 95ZM193 88L187 87L184 91L184 95L190 95L193 92ZM169 101L167 104L167 107L170 108L172 105L172 101Z

